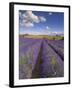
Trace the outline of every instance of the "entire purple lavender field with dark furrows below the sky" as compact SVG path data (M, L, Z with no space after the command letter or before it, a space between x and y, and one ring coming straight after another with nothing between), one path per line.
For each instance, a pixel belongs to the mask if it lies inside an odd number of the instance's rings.
M63 39L19 37L19 79L63 76Z

